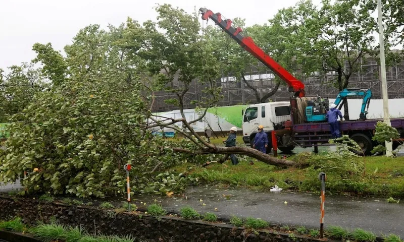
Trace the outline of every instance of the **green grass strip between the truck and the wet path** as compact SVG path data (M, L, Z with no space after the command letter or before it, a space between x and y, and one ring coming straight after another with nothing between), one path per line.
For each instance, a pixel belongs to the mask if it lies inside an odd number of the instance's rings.
M404 198L404 157L376 156L358 159L365 161L364 174L357 180L327 177L328 193ZM225 165L212 163L206 168L194 166L188 174L197 177L201 183L251 189L267 190L278 185L284 189L316 192L320 188L317 176L307 169L280 169L260 161L249 165L248 161L240 159L236 166L231 165L230 161L226 161ZM186 171L189 166L189 163L185 163L175 169L180 173Z

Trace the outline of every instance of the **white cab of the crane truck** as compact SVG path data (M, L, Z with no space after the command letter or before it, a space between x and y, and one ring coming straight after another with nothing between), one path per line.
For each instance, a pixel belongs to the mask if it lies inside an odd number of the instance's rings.
M290 120L290 102L268 102L248 106L243 113L243 141L250 143L250 135L258 132L258 126L264 131L274 130L274 124Z

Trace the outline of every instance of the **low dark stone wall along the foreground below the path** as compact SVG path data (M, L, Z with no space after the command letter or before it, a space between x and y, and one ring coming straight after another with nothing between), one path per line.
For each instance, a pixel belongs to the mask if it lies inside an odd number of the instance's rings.
M35 225L38 221L49 223L51 217L54 217L64 225L83 226L91 234L131 234L151 241L291 241L286 234L245 230L230 224L191 221L171 216L157 218L141 213L117 213L7 197L0 197L0 208L2 220L18 216L25 224ZM313 239L297 236L297 241L309 240Z

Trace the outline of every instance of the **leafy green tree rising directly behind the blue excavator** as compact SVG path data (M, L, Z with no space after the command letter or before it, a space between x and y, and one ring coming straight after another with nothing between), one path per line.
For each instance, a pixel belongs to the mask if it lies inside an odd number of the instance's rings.
M336 73L333 86L339 91L348 87L353 73L360 71L361 61L375 54L376 23L360 0L337 0L333 4L326 0L320 8L311 0L301 1L282 9L271 22L292 29L288 38L294 42L289 47L294 49L302 73ZM349 119L346 100L344 117Z

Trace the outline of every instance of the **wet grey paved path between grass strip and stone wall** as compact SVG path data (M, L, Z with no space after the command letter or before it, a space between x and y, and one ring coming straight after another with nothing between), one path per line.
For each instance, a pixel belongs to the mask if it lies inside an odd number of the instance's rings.
M224 195L230 195L227 200ZM185 198L140 197L136 201L162 202L164 208L177 212L190 205L200 212L214 212L219 217L262 218L275 224L320 226L320 198L318 195L290 192L254 192L245 189L217 189L195 187L185 191ZM202 199L203 201L200 201ZM287 202L285 204L284 202ZM205 203L206 205L203 205ZM384 199L328 196L325 202L325 226L341 225L348 229L363 228L377 234L395 233L404 237L404 204L387 203ZM218 208L218 211L215 211Z

